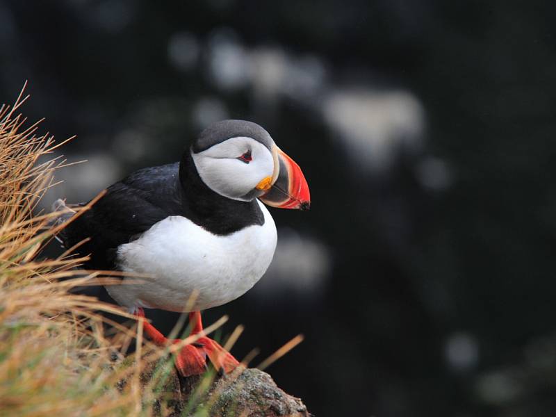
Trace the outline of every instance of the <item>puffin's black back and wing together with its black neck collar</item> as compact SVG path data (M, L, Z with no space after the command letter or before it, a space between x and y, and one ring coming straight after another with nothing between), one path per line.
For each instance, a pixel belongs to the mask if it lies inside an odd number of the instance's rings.
M208 188L189 150L180 163L138 170L108 187L106 194L63 231L66 247L85 238L80 254L90 254L88 268L115 269L115 251L170 215L181 215L217 235L263 224L256 200L240 202Z

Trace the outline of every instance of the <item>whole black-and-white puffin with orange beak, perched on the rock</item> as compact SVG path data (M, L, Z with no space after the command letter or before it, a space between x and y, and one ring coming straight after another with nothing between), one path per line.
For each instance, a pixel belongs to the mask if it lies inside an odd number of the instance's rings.
M225 373L239 365L205 336L200 311L236 300L264 275L277 245L265 205L308 210L311 199L299 165L263 127L223 120L204 129L179 162L133 172L68 221L72 207L85 204L56 200L67 222L58 237L67 248L81 243L86 268L126 272L106 290L137 317L145 309L189 313L199 338L174 358L188 377L204 373L207 361ZM143 328L156 345L180 342L148 321Z

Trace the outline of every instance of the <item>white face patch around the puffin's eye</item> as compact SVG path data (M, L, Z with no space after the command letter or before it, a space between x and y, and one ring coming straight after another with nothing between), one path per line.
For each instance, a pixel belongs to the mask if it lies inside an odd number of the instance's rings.
M238 159L246 152L251 161ZM215 193L231 199L250 201L245 197L266 177L272 177L274 158L261 142L246 136L229 138L197 154L192 153L199 177Z

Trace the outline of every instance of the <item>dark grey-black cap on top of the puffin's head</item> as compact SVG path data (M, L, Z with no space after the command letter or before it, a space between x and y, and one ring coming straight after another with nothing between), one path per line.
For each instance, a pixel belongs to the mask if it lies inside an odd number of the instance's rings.
M197 140L191 145L191 149L197 154L213 145L224 142L224 140L237 138L238 136L253 138L272 151L272 138L270 138L268 132L259 124L247 122L247 120L222 120L211 124L199 134Z

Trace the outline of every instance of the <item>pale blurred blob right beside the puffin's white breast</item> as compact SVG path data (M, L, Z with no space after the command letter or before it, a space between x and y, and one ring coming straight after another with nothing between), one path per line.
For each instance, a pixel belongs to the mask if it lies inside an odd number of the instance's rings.
M331 273L330 256L327 247L318 240L292 229L280 229L274 259L265 276L250 292L257 299L281 298L284 293L309 300L318 297Z

